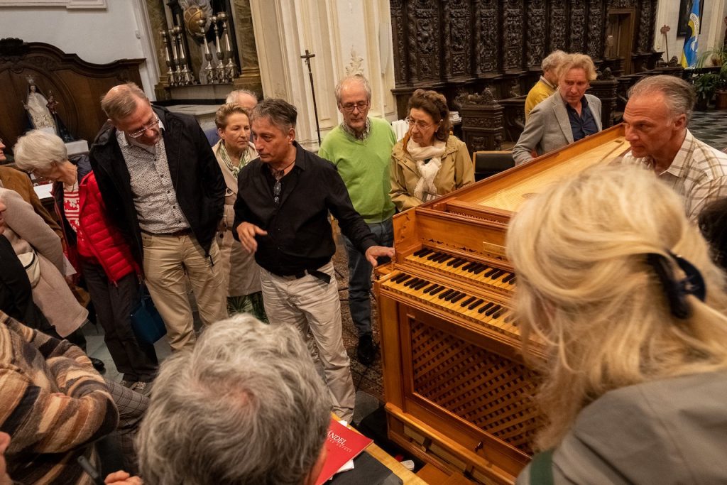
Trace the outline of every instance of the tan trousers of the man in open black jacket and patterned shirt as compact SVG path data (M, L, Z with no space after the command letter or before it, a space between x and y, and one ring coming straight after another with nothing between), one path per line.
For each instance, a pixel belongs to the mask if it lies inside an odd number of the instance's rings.
M220 250L212 241L209 257L193 235L169 236L141 233L144 245L144 276L156 309L166 326L172 351L191 348L194 333L187 281L197 300L199 318L205 325L228 318L227 292L222 287Z

